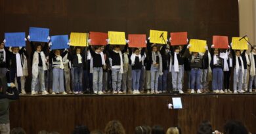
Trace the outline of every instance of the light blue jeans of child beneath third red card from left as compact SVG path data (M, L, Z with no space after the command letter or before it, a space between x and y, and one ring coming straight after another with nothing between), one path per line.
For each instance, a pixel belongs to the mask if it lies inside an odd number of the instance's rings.
M173 89L182 90L183 65L179 65L179 72L174 71L174 65L171 67L171 78L173 78Z

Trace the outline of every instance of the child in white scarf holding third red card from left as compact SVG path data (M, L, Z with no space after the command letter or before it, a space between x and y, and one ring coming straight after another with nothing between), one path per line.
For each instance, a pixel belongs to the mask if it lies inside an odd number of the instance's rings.
M174 48L171 46L170 48L172 56L171 76L173 78L173 91L179 91L179 93L184 93L182 91L182 78L184 68L184 60L182 56L186 50L186 45L183 46L182 50L180 50L179 46L175 46Z

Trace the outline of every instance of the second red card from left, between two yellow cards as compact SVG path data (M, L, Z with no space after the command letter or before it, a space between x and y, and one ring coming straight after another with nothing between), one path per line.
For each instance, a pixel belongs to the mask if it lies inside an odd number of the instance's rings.
M146 35L129 34L128 39L130 48L146 47Z

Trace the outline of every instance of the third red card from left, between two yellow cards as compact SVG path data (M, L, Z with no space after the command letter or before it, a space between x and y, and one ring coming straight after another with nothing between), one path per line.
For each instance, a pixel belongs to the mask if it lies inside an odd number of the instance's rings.
M171 35L171 46L188 44L188 32L175 32L170 33Z

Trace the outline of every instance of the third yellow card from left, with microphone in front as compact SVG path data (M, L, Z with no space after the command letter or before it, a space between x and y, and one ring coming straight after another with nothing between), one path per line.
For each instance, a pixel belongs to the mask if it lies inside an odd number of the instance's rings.
M161 37L163 34L163 37ZM150 30L150 42L157 44L165 44L167 40L167 31Z

